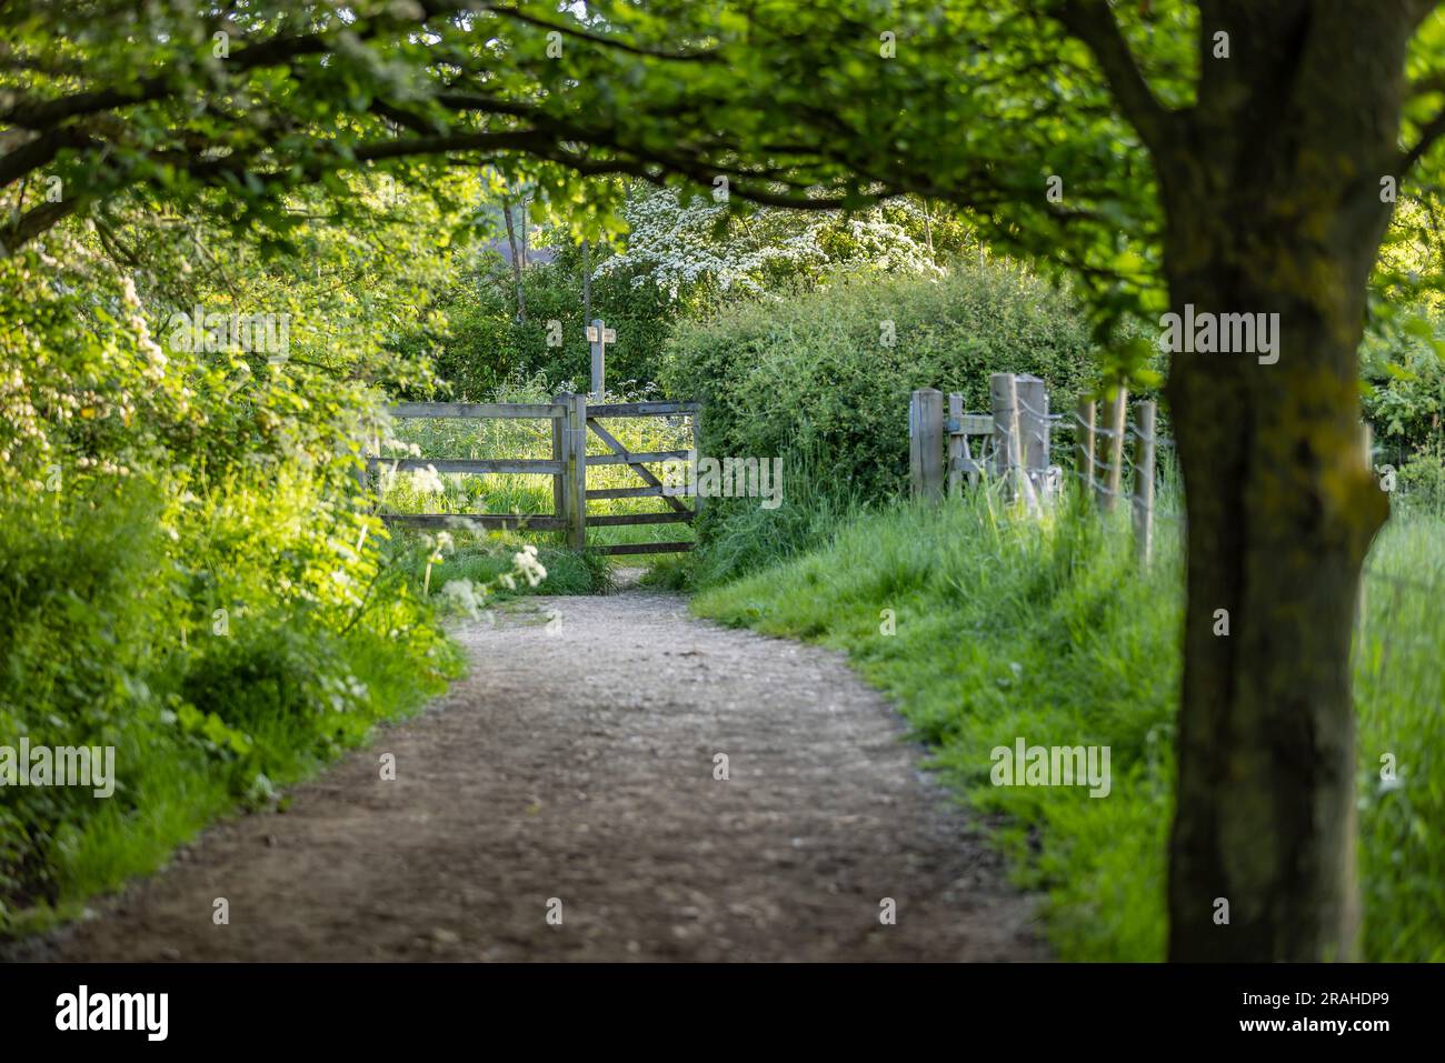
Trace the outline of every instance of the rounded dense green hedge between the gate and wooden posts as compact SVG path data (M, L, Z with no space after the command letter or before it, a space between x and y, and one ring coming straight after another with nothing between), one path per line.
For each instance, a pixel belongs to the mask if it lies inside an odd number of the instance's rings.
M1059 292L1007 264L958 264L941 280L851 280L683 322L659 383L707 403L707 454L802 449L876 500L907 485L910 391L959 391L984 412L990 373L1032 373L1055 409L1072 409L1097 380L1090 350L1088 324Z

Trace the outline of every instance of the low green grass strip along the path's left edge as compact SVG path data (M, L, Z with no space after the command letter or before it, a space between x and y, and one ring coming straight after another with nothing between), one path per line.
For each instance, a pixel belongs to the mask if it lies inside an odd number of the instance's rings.
M309 663L279 647L302 641L306 653L324 644L325 674L344 676L351 692L363 692L348 693L344 711L298 700ZM223 657L202 659L191 666L191 676L175 679L191 696L208 683L231 690L228 703L220 706L227 719L212 715L185 729L137 721L120 732L116 799L94 802L88 815L53 829L45 846L49 890L0 907L0 937L72 920L91 897L162 867L211 822L233 810L276 806L285 800L282 787L367 744L377 722L410 715L462 672L452 651L435 654L431 667L419 669L416 654L392 651L370 633L337 637L303 617L270 627L262 640ZM208 670L199 683L198 670ZM225 750L231 734L244 735L243 755Z

